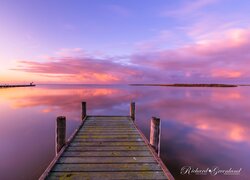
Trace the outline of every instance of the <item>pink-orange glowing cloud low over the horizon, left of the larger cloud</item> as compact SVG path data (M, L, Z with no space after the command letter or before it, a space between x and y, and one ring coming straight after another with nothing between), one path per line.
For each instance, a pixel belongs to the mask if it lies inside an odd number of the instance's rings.
M19 61L19 66L13 70L71 83L128 83L154 77L144 74L147 68L120 64L117 60L85 56L48 57L44 62Z

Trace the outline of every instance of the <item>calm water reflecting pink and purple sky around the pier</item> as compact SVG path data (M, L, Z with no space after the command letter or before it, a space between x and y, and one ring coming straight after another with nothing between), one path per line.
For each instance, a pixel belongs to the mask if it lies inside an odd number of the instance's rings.
M81 101L91 115L128 115L135 101L147 138L150 118L160 117L161 158L176 179L250 178L250 87L38 85L0 89L0 179L37 179L55 156L56 117L67 117L69 137ZM183 166L241 171L183 175Z

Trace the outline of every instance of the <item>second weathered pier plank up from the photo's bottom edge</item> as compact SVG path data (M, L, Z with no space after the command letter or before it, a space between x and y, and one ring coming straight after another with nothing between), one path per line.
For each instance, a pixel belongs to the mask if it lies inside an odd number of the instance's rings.
M56 164L53 172L160 171L157 163L140 164Z

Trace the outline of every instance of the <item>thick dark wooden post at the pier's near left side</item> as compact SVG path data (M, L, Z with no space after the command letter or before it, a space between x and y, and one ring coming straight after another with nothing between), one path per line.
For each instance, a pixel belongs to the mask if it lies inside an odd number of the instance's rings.
M58 153L66 143L66 117L58 116L56 119L56 153Z

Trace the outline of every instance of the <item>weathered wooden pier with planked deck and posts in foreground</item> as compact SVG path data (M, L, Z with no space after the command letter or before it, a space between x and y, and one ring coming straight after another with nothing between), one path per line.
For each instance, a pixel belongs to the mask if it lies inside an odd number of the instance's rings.
M135 124L135 104L130 116L87 116L82 103L82 123L65 142L65 117L57 118L55 159L40 179L174 179L156 150ZM158 119L159 120L159 119ZM155 119L151 121L153 126ZM153 135L159 136L159 126ZM156 138L157 139L157 138ZM158 139L159 141L159 139ZM157 146L157 148L155 148Z

